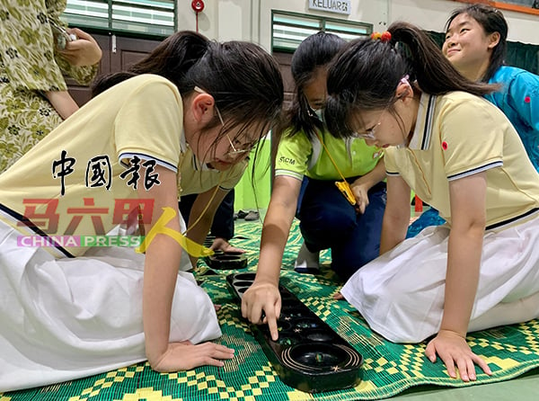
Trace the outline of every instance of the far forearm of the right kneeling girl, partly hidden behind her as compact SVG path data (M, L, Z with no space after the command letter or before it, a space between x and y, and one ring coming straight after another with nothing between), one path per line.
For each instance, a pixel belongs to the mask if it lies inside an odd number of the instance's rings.
M404 241L409 224L410 187L402 177L388 176L380 254L386 253Z

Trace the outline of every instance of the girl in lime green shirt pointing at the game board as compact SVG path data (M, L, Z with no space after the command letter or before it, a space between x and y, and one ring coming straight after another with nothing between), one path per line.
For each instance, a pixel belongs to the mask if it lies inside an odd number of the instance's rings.
M345 43L318 32L305 39L292 58L296 99L288 115L290 129L278 142L256 280L243 295L243 316L259 322L263 309L275 339L279 272L296 209L304 238L296 270L317 268L318 253L329 248L331 268L346 280L379 253L385 205L383 151L368 147L364 138L333 138L318 117L327 94L327 68ZM307 184L299 202L304 177ZM343 178L351 187L349 199L335 185Z

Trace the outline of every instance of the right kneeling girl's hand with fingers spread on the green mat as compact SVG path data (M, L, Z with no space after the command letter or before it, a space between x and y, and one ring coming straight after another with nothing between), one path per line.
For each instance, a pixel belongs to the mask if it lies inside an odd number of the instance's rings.
M486 374L492 374L489 365L481 357L472 352L463 336L455 332L440 330L437 336L427 345L425 354L431 362L436 361L436 355L438 354L446 364L447 373L453 379L456 378L455 363L463 381L476 379L476 364Z

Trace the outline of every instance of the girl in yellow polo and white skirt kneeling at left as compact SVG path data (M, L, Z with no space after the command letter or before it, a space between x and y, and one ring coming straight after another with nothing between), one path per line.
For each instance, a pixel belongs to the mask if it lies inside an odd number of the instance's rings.
M183 31L105 88L0 175L0 392L146 359L164 372L233 357L208 343L221 334L215 308L179 272L178 195L215 210L239 180L280 115L278 64L254 44ZM133 212L147 237L162 225L146 254L104 236ZM211 213L188 236L202 243Z

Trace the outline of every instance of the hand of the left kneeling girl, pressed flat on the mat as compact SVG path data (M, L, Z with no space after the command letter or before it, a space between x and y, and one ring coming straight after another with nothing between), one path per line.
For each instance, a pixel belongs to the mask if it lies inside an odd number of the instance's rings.
M153 370L169 372L190 370L203 365L223 366L220 360L234 358L234 350L216 343L200 343L193 345L190 341L169 343L163 355L150 365Z

